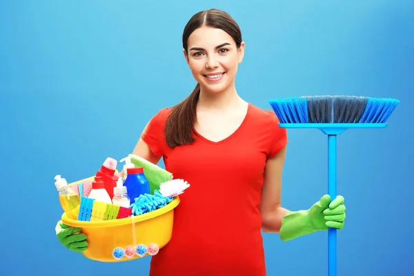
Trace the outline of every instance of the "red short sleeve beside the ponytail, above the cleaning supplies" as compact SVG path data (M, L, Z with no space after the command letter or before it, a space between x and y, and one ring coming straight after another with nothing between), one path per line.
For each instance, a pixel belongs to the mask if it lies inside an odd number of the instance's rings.
M141 134L141 139L143 139L152 152L159 157L164 155L164 145L166 145L164 133L166 119L166 109L159 110L159 112L150 119Z

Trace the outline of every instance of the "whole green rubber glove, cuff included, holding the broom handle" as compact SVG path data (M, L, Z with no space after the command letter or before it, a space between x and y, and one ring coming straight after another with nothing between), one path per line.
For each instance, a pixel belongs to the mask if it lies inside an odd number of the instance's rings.
M328 230L328 227L344 228L344 201L344 197L339 195L331 202L331 197L324 195L308 210L289 211L282 219L280 239L288 241L318 230Z

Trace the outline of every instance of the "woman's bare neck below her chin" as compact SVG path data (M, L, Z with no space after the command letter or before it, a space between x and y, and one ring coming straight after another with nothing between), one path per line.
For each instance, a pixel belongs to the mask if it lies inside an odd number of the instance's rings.
M224 109L239 106L242 102L234 83L221 92L209 92L201 87L197 108Z

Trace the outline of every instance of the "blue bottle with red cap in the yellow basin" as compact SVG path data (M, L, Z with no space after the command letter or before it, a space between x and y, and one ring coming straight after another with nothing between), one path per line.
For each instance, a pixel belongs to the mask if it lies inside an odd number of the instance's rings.
M135 203L135 199L140 195L150 194L150 182L144 175L144 168L128 168L126 173L124 186L130 198L130 204Z

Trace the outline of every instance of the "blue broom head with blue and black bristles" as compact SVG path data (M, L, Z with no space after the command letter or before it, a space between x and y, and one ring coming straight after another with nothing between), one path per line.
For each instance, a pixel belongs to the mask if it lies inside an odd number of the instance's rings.
M302 96L268 101L282 124L383 124L397 99L358 96Z

